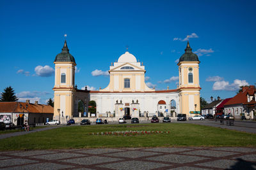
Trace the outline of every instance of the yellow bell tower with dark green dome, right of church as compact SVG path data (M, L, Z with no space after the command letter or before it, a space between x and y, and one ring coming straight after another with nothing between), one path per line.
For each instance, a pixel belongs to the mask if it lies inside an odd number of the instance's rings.
M192 52L188 41L185 53L177 64L179 66L180 113L185 113L187 116L190 116L190 111L200 111L199 63L198 56Z

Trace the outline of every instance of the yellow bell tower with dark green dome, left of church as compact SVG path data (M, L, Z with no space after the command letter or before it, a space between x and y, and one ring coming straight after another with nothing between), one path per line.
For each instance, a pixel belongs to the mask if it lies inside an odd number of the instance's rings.
M63 124L72 118L74 110L74 83L76 61L69 53L65 40L61 53L56 55L54 83L54 119Z

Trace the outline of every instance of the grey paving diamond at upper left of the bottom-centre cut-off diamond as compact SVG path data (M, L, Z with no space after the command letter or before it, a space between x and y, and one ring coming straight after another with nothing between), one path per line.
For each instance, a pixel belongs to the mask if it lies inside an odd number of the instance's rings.
M79 165L91 165L91 164L100 164L103 162L112 162L116 160L116 158L108 158L108 157L84 157L84 158L77 158L77 159L67 159L67 160L60 160L61 162L70 162L73 164Z

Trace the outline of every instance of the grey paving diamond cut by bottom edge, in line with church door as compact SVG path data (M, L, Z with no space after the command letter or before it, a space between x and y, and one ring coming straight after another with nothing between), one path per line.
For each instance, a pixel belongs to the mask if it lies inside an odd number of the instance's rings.
M164 166L170 166L168 164L160 164L160 163L154 163L154 162L142 162L142 161L136 161L131 160L127 162L120 162L120 163L114 163L114 164L106 164L102 166L97 167L103 167L103 168L111 168L111 169L120 169L120 170L126 170L126 169L154 169L158 167L164 167Z

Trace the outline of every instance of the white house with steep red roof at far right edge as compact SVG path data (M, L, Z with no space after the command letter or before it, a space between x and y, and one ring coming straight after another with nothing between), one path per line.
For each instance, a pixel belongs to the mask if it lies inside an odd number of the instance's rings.
M244 115L246 118L255 118L255 97L256 89L254 85L243 87L242 92L224 104L225 114L230 113L235 118Z

